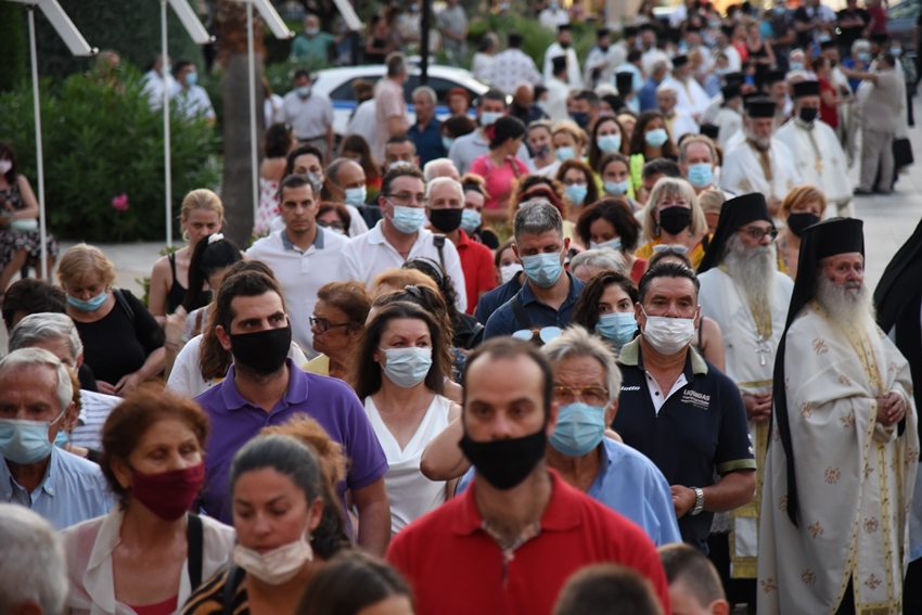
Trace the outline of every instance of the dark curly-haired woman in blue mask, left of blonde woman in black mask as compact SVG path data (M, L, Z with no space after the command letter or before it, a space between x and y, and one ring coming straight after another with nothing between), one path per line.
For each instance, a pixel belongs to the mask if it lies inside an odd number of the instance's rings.
M646 271L646 259L633 255L640 238L640 222L624 198L603 198L586 209L576 222L576 235L590 249L610 247L625 259L635 283Z

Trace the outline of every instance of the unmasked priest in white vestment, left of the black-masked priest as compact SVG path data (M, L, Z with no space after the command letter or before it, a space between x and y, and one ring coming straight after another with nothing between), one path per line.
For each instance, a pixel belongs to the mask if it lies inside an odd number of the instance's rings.
M745 141L725 153L720 188L742 195L760 192L768 202L769 213L777 218L781 201L801 185L801 174L794 156L772 136L776 104L771 99L751 99L743 117Z

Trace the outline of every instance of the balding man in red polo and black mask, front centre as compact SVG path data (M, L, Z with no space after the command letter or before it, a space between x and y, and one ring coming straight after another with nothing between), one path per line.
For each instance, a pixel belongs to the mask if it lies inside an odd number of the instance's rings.
M670 613L643 530L548 469L552 386L530 343L498 337L469 357L460 446L476 469L471 488L407 526L387 551L419 615L550 614L566 579L596 562L639 572Z

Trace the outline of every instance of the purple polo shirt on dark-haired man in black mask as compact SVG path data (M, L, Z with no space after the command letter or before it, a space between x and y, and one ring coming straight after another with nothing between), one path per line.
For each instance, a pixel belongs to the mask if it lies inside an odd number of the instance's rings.
M230 465L233 456L262 427L280 425L304 413L317 420L330 437L343 445L348 474L336 486L343 511L346 489L368 487L387 472L387 458L368 421L359 398L343 381L307 373L287 359L291 379L284 397L266 412L243 398L234 383L234 368L220 384L195 398L212 420L205 445L205 486L202 508L208 515L233 524ZM346 516L348 518L348 515ZM351 536L351 526L348 527Z

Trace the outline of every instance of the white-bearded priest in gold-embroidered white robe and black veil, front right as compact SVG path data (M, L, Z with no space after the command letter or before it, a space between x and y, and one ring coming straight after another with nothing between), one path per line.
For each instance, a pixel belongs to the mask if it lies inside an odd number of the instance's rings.
M861 221L802 240L774 366L758 613L898 615L919 459L909 364L874 322Z

